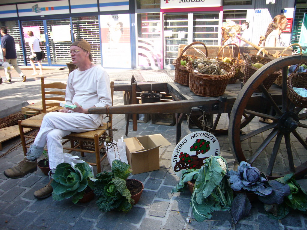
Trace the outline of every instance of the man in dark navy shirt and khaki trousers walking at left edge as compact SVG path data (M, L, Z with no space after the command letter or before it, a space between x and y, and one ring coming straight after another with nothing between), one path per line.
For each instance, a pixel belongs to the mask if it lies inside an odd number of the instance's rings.
M22 77L22 81L25 82L26 77L21 72L19 66L17 65L17 55L16 55L16 48L15 48L15 40L12 36L7 34L7 29L5 26L1 27L0 33L2 35L1 38L1 46L3 52L3 60L10 63L19 76ZM5 72L6 80L5 82L10 82L12 77L10 72Z

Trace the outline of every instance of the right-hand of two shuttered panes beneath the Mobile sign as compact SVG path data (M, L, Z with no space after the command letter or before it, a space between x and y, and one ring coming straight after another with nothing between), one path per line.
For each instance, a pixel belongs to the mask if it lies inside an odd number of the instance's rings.
M219 14L193 14L193 42L218 45Z

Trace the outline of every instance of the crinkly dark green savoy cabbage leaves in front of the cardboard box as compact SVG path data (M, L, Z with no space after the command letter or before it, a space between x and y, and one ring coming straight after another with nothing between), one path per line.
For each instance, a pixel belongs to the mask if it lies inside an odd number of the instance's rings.
M111 210L128 212L134 204L126 179L132 172L129 164L114 160L111 172L104 171L96 175L94 193L98 197L96 204L102 212Z

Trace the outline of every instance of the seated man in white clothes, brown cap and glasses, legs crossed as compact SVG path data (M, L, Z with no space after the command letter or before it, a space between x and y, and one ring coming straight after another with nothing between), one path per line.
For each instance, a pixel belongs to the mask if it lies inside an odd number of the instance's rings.
M91 46L84 40L79 39L70 46L72 63L78 69L68 76L65 101L67 105L76 105L75 109L60 109L59 112L47 113L41 124L41 128L30 146L25 158L12 168L4 171L8 178L21 178L28 173L37 170L37 158L42 155L47 144L49 166L54 173L56 166L64 162L62 137L71 132L85 132L98 128L102 122L102 115L89 114L88 109L112 105L110 79L107 72L92 63ZM52 193L50 182L40 190L34 192L34 197L42 199Z

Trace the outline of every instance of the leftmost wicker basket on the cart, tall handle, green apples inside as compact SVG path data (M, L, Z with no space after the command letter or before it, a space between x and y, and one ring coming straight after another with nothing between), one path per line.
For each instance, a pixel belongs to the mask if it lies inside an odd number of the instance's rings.
M205 57L208 57L208 50L207 50L207 47L204 43L196 41L196 42L193 42L193 43L189 44L188 46L186 46L184 48L184 50L181 52L180 56L176 60L174 60L173 63L172 63L175 67L175 79L174 79L175 82L178 82L178 83L185 85L185 86L189 86L189 72L188 72L188 70L185 66L182 66L180 64L180 61L186 60L188 62L189 57L191 57L191 58L193 57L191 55L183 55L183 54L185 53L185 51L188 50L188 48L190 48L192 45L196 45L196 44L201 44L205 47L205 50L206 50Z

